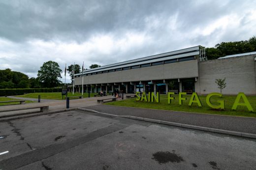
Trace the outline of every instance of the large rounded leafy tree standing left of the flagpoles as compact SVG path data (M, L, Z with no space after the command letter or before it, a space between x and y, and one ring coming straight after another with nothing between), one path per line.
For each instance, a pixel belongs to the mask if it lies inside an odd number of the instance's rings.
M47 61L38 70L37 77L44 87L56 87L61 83L61 73L62 69L57 62Z

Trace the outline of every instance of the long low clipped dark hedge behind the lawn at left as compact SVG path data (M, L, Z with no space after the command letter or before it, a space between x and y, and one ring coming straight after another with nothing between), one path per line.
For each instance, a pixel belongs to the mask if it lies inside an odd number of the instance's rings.
M0 89L0 96L22 95L24 93L47 93L61 92L62 88L15 88L15 89Z

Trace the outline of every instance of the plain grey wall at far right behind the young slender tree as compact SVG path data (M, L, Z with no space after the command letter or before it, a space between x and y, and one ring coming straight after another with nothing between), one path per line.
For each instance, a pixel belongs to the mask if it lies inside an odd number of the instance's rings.
M200 94L219 92L215 79L226 78L223 94L244 92L256 95L256 55L230 57L199 62L199 77L195 91Z

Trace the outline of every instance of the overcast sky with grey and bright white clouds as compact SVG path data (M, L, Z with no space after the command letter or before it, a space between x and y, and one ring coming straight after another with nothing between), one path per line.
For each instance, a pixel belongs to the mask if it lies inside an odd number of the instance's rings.
M0 0L0 69L29 77L254 35L256 0Z

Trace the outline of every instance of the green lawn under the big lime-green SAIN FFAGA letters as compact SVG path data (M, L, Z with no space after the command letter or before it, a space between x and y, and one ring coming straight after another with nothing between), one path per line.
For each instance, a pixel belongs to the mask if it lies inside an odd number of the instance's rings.
M202 107L198 107L196 103L193 103L192 106L189 106L189 100L191 95L183 95L183 97L187 97L187 100L183 101L183 105L179 105L178 95L174 95L174 97L175 99L172 101L171 104L167 103L167 95L162 94L160 95L160 103L141 102L141 101L136 101L135 98L132 98L132 99L123 100L123 101L109 102L109 103L106 103L106 105L193 112L193 113L208 113L208 114L256 117L256 96L247 96L247 99L249 100L250 104L254 109L253 113L248 111L245 106L238 106L237 111L232 111L231 108L233 106L236 96L223 96L222 98L213 96L211 98L211 103L215 105L218 105L217 99L224 100L225 110L214 110L210 108L205 102L206 96L204 95L198 96L202 103ZM240 101L240 102L243 102L243 101Z

